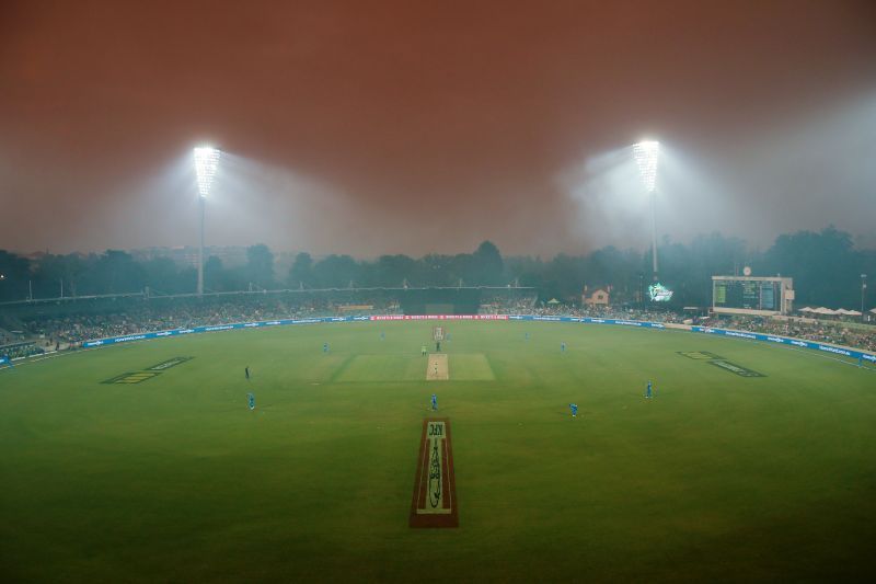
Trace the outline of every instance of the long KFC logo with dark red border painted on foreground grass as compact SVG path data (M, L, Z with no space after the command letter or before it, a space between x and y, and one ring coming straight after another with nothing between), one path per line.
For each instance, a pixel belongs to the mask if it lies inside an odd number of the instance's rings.
M453 449L447 417L423 421L408 524L411 527L459 526Z

